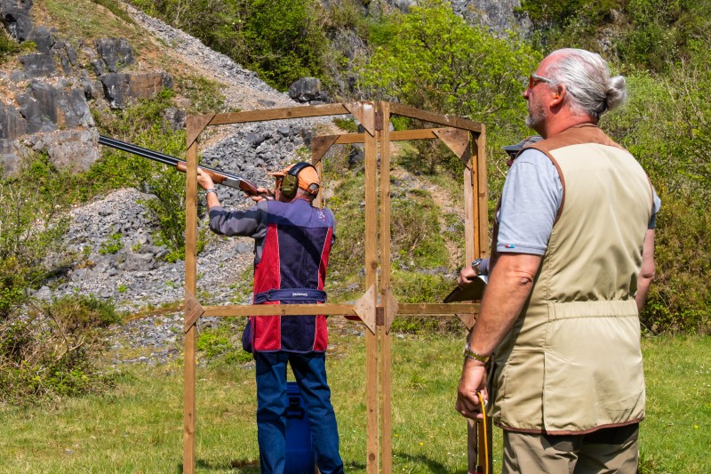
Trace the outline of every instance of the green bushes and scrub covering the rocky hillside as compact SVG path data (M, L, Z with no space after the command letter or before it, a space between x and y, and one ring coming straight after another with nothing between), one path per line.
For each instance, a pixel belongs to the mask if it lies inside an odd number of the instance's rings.
M711 273L707 249L711 242L707 213L711 198L711 40L707 35L711 1L524 0L521 12L527 12L534 24L530 38L472 27L443 0L423 0L407 14L382 8L368 12L363 7L367 2L358 0L334 0L325 6L318 0L132 3L227 53L280 90L301 76L317 76L332 96L400 101L483 122L487 125L491 205L505 175L500 146L530 133L523 127L525 102L520 97L528 74L541 57L558 47L601 52L616 71L627 76L630 91L627 106L603 117L601 125L640 160L663 200L657 229L657 277L643 324L652 333L711 332L711 289L707 285ZM124 28L138 45L138 54L148 48L145 37L116 4L46 0L37 7L56 20L58 28L67 28L71 37L85 36L90 41L106 34L118 36ZM351 52L345 52L342 45L337 48L338 37L343 35L362 48ZM19 45L0 32L0 62L32 47ZM352 80L345 80L346 75ZM172 131L163 118L167 108L179 103L178 96L181 104L191 104L191 112L224 107L218 84L179 73L174 92L164 91L156 100L124 111L95 112L94 119L102 133L180 156L185 152L184 132ZM394 122L395 127L412 125L397 117ZM451 183L459 176L459 160L436 144L424 143L413 144L414 151L403 153L395 167L449 192L456 187ZM327 164L326 173L338 181L329 205L340 221L349 224L339 229L330 291L348 299L363 290L363 174L357 166L349 167L346 159ZM100 162L78 175L62 173L37 155L28 157L18 176L0 176L0 372L8 371L3 372L0 386L18 387L17 381L28 383L39 377L32 386L49 387L48 393L75 393L79 390L75 388L82 387L83 374L92 373L92 367L85 364L92 357L90 347L99 346L71 349L76 346L72 331L92 341L95 327L116 318L110 305L104 307L91 299L53 301L45 307L28 304L33 302L32 291L60 281L66 268L62 265L69 264L49 258L60 254L60 235L66 229L62 212L73 203L126 185L156 195L147 203L161 224L156 237L170 247L170 258L181 258L185 223L181 212L184 176L180 173L106 150ZM435 269L451 270L461 264L461 253L447 251L455 239L442 232L431 193L406 186L394 186L394 193L393 285L397 297L437 301L450 282ZM82 261L81 255L70 258L76 259L72 264ZM67 311L86 315L86 323L69 329L61 316ZM400 329L411 327L405 324ZM35 338L49 345L44 349L31 345ZM36 350L44 350L46 358L31 358ZM52 382L52 377L42 374L73 382L67 388L68 382Z

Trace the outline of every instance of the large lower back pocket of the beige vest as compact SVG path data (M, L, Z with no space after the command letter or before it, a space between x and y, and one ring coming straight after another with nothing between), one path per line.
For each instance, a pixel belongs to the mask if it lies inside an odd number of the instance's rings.
M543 374L548 431L581 431L643 416L635 301L549 303Z

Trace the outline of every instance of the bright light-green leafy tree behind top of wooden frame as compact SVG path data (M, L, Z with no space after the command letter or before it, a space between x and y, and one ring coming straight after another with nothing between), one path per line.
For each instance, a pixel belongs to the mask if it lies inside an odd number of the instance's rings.
M527 133L521 94L540 56L515 36L493 36L427 0L372 37L380 44L359 68L364 95L483 122L495 149Z

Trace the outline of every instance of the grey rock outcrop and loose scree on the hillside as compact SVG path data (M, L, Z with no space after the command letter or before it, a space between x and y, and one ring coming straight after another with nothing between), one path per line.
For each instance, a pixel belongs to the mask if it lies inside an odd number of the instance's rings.
M179 65L176 68L218 82L228 109L298 105L196 38L130 6L127 9L145 35L155 38L157 54ZM142 66L148 61L125 38L79 41L75 49L59 31L43 26L30 27L22 37L36 43L36 52L0 71L0 159L5 171L12 172L21 157L35 150L46 152L59 167L86 169L100 152L92 109L125 108L172 86L168 72ZM173 125L185 125L184 111L174 109L172 116ZM266 172L297 159L297 150L308 146L316 125L326 122L295 119L225 126L201 147L203 163L270 186ZM65 245L67 255L75 256L74 264L58 272L60 278L47 282L35 296L51 299L91 293L125 310L180 301L184 262L164 260L167 250L153 239L156 223L145 205L153 197L143 191L149 190L120 189L72 210ZM218 194L228 207L252 203L234 189L218 187ZM204 301L234 301L231 286L251 267L252 249L253 242L246 238L210 239L198 256L198 273L203 276L198 287L204 291Z

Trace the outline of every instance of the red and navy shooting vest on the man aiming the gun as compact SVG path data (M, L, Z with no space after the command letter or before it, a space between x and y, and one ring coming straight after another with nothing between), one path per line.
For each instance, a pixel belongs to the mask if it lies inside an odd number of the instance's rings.
M304 199L268 202L267 236L254 265L254 304L325 301L334 223L330 210ZM252 316L245 332L254 351L323 352L328 345L324 315Z

